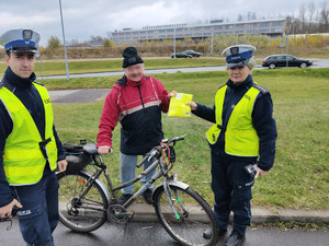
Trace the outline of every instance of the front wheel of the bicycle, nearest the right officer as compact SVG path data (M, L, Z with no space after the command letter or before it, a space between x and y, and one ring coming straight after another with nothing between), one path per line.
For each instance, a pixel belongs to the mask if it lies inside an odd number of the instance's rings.
M218 241L216 218L208 203L193 189L169 185L171 200L181 219L177 219L169 206L163 186L155 194L155 210L164 230L181 245L211 246ZM184 202L184 211L179 203ZM212 227L211 238L204 238L203 233Z

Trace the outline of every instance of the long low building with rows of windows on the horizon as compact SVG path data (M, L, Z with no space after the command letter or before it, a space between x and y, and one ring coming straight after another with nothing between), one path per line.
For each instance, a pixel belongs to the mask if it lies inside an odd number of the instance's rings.
M253 20L224 23L222 20L211 21L208 24L188 25L186 23L145 26L141 30L123 28L107 32L107 37L115 44L136 43L138 40L162 39L205 39L220 34L263 34L279 36L285 32L286 20Z

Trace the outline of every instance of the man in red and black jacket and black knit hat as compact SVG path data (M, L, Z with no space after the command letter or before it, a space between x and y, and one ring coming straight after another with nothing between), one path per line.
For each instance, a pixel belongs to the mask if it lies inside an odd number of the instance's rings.
M161 112L168 112L169 99L175 92L168 94L160 81L144 74L144 61L135 47L127 47L123 57L125 74L115 82L106 96L100 119L98 148L99 154L112 153L112 132L120 121L120 178L122 183L126 183L135 178L137 156L145 155L163 139ZM144 169L150 164L145 163ZM154 172L146 175L141 184L146 184ZM152 188L151 186L143 194L149 204ZM133 191L134 185L123 188L120 203L124 204Z

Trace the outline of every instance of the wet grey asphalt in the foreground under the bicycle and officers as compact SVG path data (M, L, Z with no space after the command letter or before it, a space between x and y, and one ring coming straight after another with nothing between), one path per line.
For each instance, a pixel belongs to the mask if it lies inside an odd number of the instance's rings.
M7 231L8 225L9 222L0 223L0 245L25 245L19 232L18 221L13 220L12 229L9 231ZM59 224L54 232L54 239L56 246L178 246L164 229L154 222L105 223L89 234L75 233ZM220 238L217 245L223 245L224 239ZM280 231L260 226L248 229L243 246L329 246L329 233Z

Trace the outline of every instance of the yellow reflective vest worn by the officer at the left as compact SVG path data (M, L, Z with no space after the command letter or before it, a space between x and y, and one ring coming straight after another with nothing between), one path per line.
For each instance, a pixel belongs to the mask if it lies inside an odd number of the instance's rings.
M3 166L7 180L12 186L31 185L39 181L46 165L56 168L57 145L53 132L53 107L47 90L37 83L33 83L45 108L45 155L39 143L43 141L37 127L22 102L7 87L0 89L0 99L3 102L12 121L12 132L5 140L3 152Z

